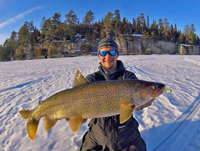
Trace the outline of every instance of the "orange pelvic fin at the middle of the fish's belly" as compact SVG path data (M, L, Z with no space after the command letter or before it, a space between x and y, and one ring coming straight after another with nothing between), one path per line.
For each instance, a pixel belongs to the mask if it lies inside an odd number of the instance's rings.
M69 119L70 127L74 133L76 133L79 130L82 124L82 121L83 119L79 117L72 117Z

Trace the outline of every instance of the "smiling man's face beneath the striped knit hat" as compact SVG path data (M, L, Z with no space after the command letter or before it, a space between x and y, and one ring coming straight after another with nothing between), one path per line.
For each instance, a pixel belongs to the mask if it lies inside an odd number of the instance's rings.
M100 50L100 52L101 51L110 51L110 50L113 50L113 48L103 48L103 49ZM108 71L116 70L116 68L117 68L117 58L118 58L117 53L116 53L115 56L111 56L110 54L106 54L106 56L104 56L104 57L99 54L99 59L100 59L102 66L104 68L106 68L106 70L108 70Z

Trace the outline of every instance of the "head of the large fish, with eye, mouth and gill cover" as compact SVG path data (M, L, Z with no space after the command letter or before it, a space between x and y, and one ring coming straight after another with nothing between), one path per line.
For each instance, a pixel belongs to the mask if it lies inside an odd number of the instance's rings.
M133 101L136 107L144 105L164 92L165 85L156 82L139 81L133 90Z

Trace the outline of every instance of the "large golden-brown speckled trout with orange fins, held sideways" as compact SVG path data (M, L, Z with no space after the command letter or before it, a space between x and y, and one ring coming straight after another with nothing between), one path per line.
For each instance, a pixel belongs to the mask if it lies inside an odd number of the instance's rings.
M26 119L28 135L34 140L41 118L46 131L58 119L66 118L69 118L73 132L79 130L85 118L120 114L120 123L124 123L131 117L134 108L144 105L164 91L164 84L142 80L88 83L77 71L73 88L52 95L33 110L21 110L19 113Z

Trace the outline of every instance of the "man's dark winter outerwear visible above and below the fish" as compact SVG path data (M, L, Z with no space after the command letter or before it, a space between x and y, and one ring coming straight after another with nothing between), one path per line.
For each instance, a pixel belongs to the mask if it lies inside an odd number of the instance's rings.
M99 71L86 77L89 82L137 79L134 73L127 71L121 61L117 61L117 70L108 73L101 65ZM138 122L131 117L120 124L119 115L94 118L89 123L89 130L83 137L81 151L110 150L118 151L134 145L135 150L145 151L146 144L138 131ZM127 150L128 151L128 150Z

